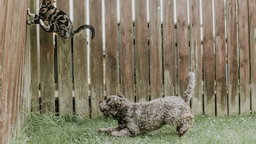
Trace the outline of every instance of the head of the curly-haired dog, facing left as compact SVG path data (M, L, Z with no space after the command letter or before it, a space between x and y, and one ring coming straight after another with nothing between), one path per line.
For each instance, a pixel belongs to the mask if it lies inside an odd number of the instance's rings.
M124 113L124 108L128 101L122 94L111 95L106 100L99 102L99 108L104 114L104 116L109 118L120 118L121 114Z

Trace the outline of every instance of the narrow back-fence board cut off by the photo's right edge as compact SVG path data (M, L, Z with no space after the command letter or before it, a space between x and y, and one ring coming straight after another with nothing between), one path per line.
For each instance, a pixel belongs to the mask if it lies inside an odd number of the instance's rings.
M250 26L251 110L256 111L256 3L248 1Z

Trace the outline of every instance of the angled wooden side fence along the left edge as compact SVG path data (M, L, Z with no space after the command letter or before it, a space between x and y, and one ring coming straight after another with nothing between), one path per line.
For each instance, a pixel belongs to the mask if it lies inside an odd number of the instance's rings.
M1 0L0 7L0 143L11 143L30 114L27 1Z

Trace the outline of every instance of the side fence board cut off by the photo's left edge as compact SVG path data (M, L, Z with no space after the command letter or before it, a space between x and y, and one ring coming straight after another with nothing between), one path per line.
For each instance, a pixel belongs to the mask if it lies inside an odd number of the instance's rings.
M6 19L6 13L7 13L7 1L1 1L0 4L2 6L2 9L0 10L0 18L1 19ZM5 56L5 33L6 33L6 22L5 21L0 21L0 74L2 75L5 71L5 62L4 56ZM6 95L5 92L3 91L3 84L4 79L1 77L0 78L0 143L6 143Z

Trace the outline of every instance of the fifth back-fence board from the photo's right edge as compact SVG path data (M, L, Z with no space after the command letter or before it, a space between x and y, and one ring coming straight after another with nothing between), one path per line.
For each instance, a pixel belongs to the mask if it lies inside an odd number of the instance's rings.
M204 63L204 112L215 114L215 86L214 86L214 37L213 37L213 8L212 1L202 1L203 22L203 63Z

